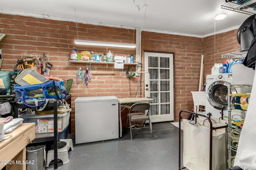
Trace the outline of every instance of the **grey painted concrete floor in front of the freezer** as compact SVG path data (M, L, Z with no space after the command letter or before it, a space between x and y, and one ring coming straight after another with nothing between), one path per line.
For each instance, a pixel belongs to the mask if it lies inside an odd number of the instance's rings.
M70 137L72 138L72 137ZM74 145L67 164L58 170L178 170L178 127L170 122L149 129L127 130L122 138ZM47 170L53 170L53 163Z

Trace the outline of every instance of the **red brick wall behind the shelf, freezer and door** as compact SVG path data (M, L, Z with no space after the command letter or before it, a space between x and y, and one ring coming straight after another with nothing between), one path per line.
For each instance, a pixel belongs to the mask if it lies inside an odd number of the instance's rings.
M135 97L138 77L129 81L122 70L114 69L112 64L92 64L92 81L88 86L76 83L76 73L79 67L86 70L89 64L70 63L70 51L76 47L81 51L94 51L94 54L107 53L111 50L113 55L131 55L135 49L107 48L75 45L74 39L104 40L122 43L135 43L136 31L114 27L104 27L78 23L78 36L76 23L68 21L55 21L16 15L0 15L0 33L6 37L0 42L3 53L1 70L12 71L12 66L20 59L21 53L46 53L54 66L50 71L52 76L63 79L73 79L74 83L70 94L72 95L72 132L74 125L74 100L80 96L117 96ZM236 31L229 31L216 35L216 63L223 63L225 59L220 54L238 49ZM191 110L193 100L191 91L198 90L201 55L204 55L204 77L210 73L214 64L213 36L205 38L170 35L142 31L142 63L144 51L173 52L175 68L175 120L181 109ZM125 66L126 67L126 66ZM132 66L135 71L135 66ZM99 74L100 73L100 74ZM102 74L103 73L103 74ZM142 77L143 78L143 77ZM142 85L140 87L143 87ZM130 92L131 89L131 92ZM144 96L143 89L140 90Z

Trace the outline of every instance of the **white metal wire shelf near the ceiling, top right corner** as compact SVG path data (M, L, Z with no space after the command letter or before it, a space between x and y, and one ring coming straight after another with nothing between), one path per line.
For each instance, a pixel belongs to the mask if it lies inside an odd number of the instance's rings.
M233 2L226 2L221 5L222 9L240 12L243 14L253 15L256 14L256 1L249 0L245 2L244 0L235 0Z

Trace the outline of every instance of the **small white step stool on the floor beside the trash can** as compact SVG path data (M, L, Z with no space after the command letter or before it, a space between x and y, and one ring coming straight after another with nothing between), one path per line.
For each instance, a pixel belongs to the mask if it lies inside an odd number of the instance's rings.
M63 164L67 164L69 162L68 159L68 150L71 148L73 150L73 142L72 139L60 139L66 143L63 148L58 149L58 159L62 160ZM48 150L47 158L46 158L46 167L49 167L50 162L54 160L54 150Z

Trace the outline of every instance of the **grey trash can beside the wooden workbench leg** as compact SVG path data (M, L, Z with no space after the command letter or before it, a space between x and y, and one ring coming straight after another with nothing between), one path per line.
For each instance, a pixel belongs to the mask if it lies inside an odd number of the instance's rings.
M46 170L45 148L45 145L26 148L26 170Z

